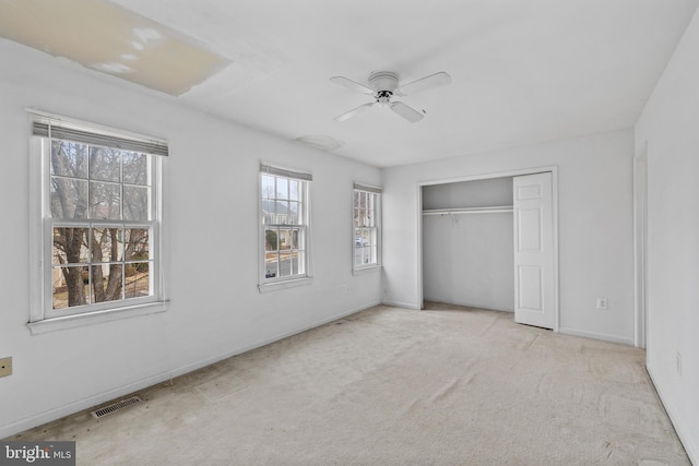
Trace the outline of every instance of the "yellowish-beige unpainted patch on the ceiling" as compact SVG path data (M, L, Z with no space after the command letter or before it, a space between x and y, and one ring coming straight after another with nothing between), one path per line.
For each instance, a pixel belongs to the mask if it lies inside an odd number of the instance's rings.
M173 96L230 61L104 0L0 3L0 36Z

